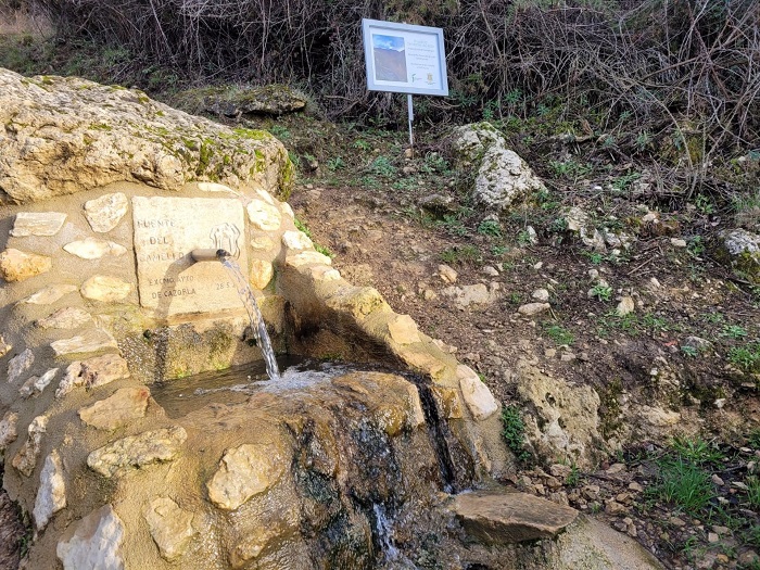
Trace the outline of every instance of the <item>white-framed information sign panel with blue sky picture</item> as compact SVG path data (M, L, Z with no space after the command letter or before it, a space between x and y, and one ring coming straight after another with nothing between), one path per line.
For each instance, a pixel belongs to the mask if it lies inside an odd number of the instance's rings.
M443 30L363 20L367 88L409 94L448 94Z

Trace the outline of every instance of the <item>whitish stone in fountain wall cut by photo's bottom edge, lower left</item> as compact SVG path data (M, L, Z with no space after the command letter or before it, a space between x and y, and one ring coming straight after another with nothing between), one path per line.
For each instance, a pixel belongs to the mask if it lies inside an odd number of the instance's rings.
M124 523L111 505L72 524L55 554L64 570L124 570Z

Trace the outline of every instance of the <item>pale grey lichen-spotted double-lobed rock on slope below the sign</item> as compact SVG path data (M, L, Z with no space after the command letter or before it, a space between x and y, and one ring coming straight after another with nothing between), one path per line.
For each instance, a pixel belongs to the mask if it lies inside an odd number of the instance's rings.
M467 161L478 161L473 198L489 208L508 210L532 192L545 190L506 139L489 123L465 125L455 131L454 145Z

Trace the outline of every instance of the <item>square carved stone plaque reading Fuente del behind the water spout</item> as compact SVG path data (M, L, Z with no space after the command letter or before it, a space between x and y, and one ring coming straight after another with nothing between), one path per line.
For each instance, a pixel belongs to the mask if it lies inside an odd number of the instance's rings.
M246 268L243 206L237 200L136 197L135 254L140 304L157 316L243 308L217 262L193 263L197 249L226 250Z

